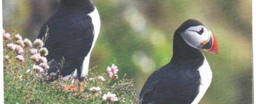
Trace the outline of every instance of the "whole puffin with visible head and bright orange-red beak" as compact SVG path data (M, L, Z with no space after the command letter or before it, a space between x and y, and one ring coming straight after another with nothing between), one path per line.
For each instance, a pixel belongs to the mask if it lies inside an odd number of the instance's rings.
M140 91L139 103L197 104L212 78L201 50L217 54L216 38L200 21L186 20L173 36L171 61L149 76Z

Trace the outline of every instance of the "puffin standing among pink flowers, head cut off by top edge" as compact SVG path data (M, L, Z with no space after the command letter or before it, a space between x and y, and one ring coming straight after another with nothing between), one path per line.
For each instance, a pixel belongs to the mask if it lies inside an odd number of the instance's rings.
M45 36L47 29L48 36ZM61 0L58 10L43 24L37 37L45 39L44 47L48 49L46 59L51 60L51 64L47 73L78 79L79 91L83 92L91 51L99 32L100 15L91 0Z

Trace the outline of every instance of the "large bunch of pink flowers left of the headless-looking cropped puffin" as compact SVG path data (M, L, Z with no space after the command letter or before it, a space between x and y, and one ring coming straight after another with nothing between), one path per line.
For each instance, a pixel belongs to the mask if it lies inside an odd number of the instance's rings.
M32 66L33 70L36 72L43 72L44 69L49 68L49 66L47 65L47 59L45 57L48 55L48 50L46 48L42 48L43 42L41 41L41 39L36 39L34 41L35 48L31 49L32 42L27 38L25 38L23 41L20 34L14 35L12 39L12 35L10 35L9 33L6 33L3 30L3 37L4 39L9 39L11 41L14 41L14 43L7 44L6 47L12 51L17 51L18 55L15 58L19 62L25 61L23 57L24 50L27 51L28 49L30 49L30 53L32 55L30 59L34 62L40 62L39 65Z

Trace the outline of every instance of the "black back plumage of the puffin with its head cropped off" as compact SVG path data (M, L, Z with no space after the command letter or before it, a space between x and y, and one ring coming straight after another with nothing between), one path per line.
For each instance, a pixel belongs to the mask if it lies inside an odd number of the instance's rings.
M58 11L40 30L37 38L41 39L45 37L46 27L49 27L49 37L45 43L49 53L47 60L60 62L64 57L61 70L63 76L71 74L75 69L78 70L78 76L81 74L84 58L88 55L94 39L94 26L88 16L94 9L90 0L61 0ZM55 66L50 67L48 73L58 70Z

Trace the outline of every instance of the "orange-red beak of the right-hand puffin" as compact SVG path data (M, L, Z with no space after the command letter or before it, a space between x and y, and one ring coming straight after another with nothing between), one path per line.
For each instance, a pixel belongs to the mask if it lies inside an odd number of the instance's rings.
M211 33L211 36L210 36L208 42L206 41L201 44L204 44L202 49L209 51L210 53L217 54L219 52L218 43L217 43L216 38L214 37L213 33Z

